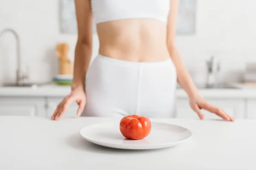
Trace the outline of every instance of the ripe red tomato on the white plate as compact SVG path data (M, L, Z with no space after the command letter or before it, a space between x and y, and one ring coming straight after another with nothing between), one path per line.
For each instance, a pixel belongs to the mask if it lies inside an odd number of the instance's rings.
M128 139L143 139L151 131L151 122L145 116L125 116L121 119L119 128L122 135Z

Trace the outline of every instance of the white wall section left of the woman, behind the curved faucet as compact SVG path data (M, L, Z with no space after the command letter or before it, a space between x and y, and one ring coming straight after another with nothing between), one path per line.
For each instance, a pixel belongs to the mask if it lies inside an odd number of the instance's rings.
M76 35L60 34L58 0L0 0L0 31L13 28L20 36L23 64L29 66L29 80L50 81L58 72L57 42L70 45L74 56ZM94 37L95 56L98 49ZM0 82L15 81L15 39L6 34L0 40Z

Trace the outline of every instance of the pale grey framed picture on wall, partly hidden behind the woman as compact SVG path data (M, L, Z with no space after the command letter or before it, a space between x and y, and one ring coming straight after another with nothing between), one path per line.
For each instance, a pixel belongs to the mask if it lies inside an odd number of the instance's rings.
M146 1L146 0L145 0ZM196 0L180 0L177 18L177 34L195 34ZM76 9L74 0L60 0L61 33L76 34ZM93 34L96 34L93 25Z

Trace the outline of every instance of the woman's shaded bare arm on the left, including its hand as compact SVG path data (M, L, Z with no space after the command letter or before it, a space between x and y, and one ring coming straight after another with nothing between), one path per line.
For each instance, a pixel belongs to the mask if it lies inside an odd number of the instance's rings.
M75 4L78 39L75 50L72 91L58 104L52 115L52 120L61 119L61 116L73 102L77 102L79 105L77 115L80 116L86 103L84 78L92 55L93 16L90 0L75 0Z

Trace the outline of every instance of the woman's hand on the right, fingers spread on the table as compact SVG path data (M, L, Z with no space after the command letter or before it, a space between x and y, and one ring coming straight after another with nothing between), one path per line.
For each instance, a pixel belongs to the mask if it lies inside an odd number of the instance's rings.
M221 108L218 108L210 104L199 95L196 97L190 98L189 105L198 114L200 119L204 119L204 115L203 113L201 113L201 109L204 109L209 112L215 113L216 115L222 117L224 120L232 121L232 122L234 121L234 119L230 115L225 113L225 111L223 111Z

